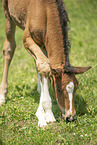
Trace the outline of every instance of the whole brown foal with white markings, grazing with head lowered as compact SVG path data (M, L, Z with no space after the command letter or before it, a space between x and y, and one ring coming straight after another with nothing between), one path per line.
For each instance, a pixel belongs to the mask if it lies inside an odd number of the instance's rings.
M23 43L34 57L38 71L39 108L38 125L55 121L49 95L49 79L53 80L55 97L65 120L76 115L74 94L78 88L75 74L90 67L72 67L69 62L68 16L62 0L3 0L6 41L5 60L0 86L0 104L5 102L8 90L8 69L16 48L16 25L24 30Z

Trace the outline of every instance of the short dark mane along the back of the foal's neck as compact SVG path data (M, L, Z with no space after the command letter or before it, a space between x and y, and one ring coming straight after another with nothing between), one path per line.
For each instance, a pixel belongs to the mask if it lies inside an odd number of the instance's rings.
M67 23L69 22L69 18L63 0L56 0L56 2L58 5L58 11L60 16L60 23L61 23L63 41L64 41L65 65L69 66L70 65L69 63L70 42L68 40L68 26L67 26Z

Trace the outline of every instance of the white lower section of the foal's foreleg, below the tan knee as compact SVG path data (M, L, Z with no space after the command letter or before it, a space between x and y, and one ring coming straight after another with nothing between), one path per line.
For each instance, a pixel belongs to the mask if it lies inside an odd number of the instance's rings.
M48 122L56 121L52 113L52 103L49 95L49 79L43 77L41 84L41 96L39 108L36 112L36 116L39 119L38 126L43 127Z

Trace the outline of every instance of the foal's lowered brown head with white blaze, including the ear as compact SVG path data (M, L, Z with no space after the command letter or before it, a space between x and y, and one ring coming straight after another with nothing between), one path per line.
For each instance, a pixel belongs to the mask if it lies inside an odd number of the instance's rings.
M78 88L78 80L75 74L84 73L90 67L64 67L53 69L54 90L56 100L66 121L74 120L76 115L74 107L74 95Z

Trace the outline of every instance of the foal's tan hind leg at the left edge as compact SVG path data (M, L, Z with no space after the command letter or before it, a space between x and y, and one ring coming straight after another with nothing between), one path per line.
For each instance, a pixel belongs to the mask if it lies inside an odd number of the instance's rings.
M8 85L7 85L8 68L16 47L15 38L14 38L15 27L16 27L15 24L11 20L8 20L6 18L5 21L6 41L4 42L4 46L3 46L3 57L5 60L5 64L4 64L3 78L0 85L0 105L5 102L5 95L8 91Z

